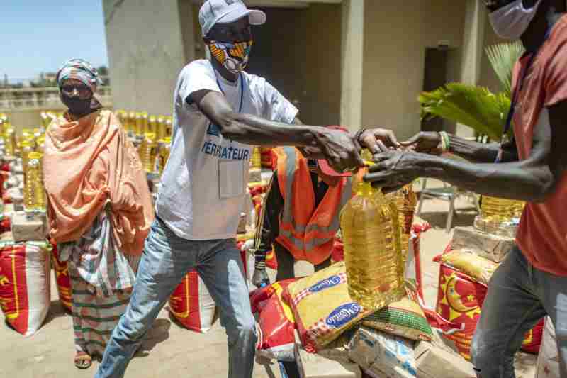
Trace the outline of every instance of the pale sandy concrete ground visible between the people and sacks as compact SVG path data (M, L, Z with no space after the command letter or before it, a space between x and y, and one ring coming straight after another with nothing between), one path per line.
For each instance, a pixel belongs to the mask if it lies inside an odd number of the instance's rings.
M422 219L430 222L432 229L422 236L422 265L425 300L429 306L437 301L437 279L439 266L432 258L442 252L449 242L444 225L449 206L438 199L425 201ZM454 226L470 226L475 216L470 201L457 201L458 216ZM420 222L420 219L416 219ZM296 274L310 274L313 268L298 264ZM53 281L53 279L52 279ZM0 326L0 378L50 378L93 377L97 362L87 370L78 370L73 365L72 320L59 301L52 282L52 306L41 330L30 338L13 332L4 322ZM0 321L4 317L0 315ZM177 326L169 319L167 310L162 310L154 328L147 336L139 353L130 363L125 377L130 378L186 378L226 377L228 351L226 336L217 322L206 335L193 333ZM534 357L522 355L518 377L534 377ZM280 377L277 365L259 365L254 377ZM439 377L444 378L444 377ZM447 377L449 378L449 377ZM451 377L452 378L452 377Z

